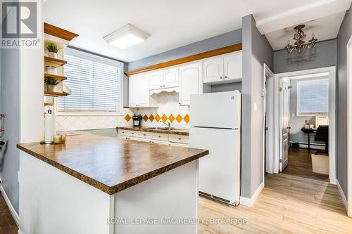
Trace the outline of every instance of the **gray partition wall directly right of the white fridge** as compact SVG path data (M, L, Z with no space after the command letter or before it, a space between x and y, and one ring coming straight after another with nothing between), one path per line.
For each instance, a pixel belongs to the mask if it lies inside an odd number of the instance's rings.
M242 18L241 196L252 197L263 182L263 63L273 69L273 51L252 15ZM253 110L256 103L258 110Z

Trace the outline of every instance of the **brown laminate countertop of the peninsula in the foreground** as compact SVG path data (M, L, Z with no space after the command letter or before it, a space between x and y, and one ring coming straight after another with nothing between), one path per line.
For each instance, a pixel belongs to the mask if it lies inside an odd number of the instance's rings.
M208 155L208 150L96 135L67 136L66 143L58 145L23 143L17 148L109 195Z

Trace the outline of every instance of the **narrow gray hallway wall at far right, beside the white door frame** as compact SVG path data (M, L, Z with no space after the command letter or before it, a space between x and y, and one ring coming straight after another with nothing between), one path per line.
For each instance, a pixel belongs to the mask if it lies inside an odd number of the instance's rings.
M347 11L337 36L337 179L347 194L347 54L352 35L352 11ZM349 110L351 111L351 110ZM351 143L350 143L351 144Z

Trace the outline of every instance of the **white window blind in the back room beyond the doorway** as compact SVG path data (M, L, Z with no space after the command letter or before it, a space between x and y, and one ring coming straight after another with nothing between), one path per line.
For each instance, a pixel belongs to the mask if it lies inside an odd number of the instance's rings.
M297 115L329 114L329 79L297 82Z

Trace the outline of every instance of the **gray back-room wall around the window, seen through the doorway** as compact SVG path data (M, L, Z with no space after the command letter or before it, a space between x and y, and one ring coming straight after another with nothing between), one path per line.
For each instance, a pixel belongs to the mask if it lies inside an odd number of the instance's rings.
M327 77L317 77L314 79L326 79ZM299 79L299 81L303 80L313 80L312 78L310 79ZM290 86L292 88L289 90L289 108L290 108L290 136L289 136L289 141L291 142L300 142L300 143L308 143L308 138L307 134L303 134L301 131L302 127L304 126L305 120L308 119L309 124L314 124L315 126L315 116L297 116L297 82L298 80L291 80L290 81ZM292 114L295 116L292 117ZM322 144L321 141L314 141L314 137L312 134L310 134L310 143L311 144Z

